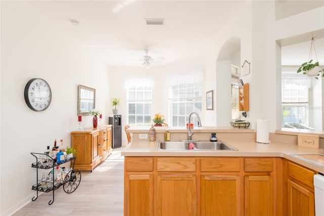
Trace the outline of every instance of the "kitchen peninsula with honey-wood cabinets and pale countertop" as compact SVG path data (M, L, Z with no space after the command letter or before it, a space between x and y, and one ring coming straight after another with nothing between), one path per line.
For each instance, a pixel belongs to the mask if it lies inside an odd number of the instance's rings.
M187 129L168 129L171 140L186 139ZM156 140L164 131L156 127ZM125 215L314 215L312 177L324 166L298 155L322 155L322 147L299 147L286 135L278 135L283 142L271 135L270 144L257 143L249 128L193 131L193 140L216 133L238 151L157 151L156 141L143 139L148 127L128 129L132 143L121 153Z

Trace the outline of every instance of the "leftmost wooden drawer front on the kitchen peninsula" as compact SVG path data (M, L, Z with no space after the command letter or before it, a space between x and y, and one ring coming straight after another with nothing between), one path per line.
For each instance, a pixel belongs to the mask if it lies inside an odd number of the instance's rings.
M153 158L125 158L126 171L153 171Z

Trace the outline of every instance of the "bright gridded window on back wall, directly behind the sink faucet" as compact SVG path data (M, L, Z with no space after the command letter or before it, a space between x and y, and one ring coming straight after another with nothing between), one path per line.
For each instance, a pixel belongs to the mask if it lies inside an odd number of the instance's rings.
M172 126L185 126L193 111L201 116L201 82L171 85L169 97ZM194 125L197 125L197 120L195 115L191 116Z

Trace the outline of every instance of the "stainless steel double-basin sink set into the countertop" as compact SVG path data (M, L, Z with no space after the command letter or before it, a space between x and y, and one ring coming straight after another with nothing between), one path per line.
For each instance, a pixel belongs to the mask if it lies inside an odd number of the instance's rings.
M189 144L193 143L195 149L189 150ZM237 151L233 146L224 142L211 141L164 141L158 140L156 143L157 151Z

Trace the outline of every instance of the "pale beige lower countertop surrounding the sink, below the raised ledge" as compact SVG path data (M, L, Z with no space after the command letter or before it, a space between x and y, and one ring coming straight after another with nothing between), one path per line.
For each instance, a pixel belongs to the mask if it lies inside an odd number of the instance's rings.
M123 156L176 156L176 157L283 157L324 174L324 166L295 157L295 154L323 154L323 149L300 147L297 144L255 141L222 140L238 151L168 151L156 150L156 141L134 141L121 152Z

